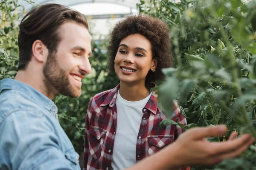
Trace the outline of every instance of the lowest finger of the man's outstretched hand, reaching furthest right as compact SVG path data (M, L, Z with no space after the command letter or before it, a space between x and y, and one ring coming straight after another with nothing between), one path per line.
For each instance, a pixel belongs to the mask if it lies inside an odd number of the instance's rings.
M241 147L238 149L234 150L233 152L230 153L225 153L221 156L219 156L222 160L224 159L229 159L229 158L236 158L237 156L241 155L245 150L247 150L248 147L250 147L251 144L253 144L254 139L253 137L250 137L250 139L245 142Z

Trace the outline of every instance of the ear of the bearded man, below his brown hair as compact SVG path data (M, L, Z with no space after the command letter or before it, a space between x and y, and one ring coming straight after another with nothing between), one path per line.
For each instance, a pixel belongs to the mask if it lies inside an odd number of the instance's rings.
M48 49L41 40L35 40L32 44L32 54L38 62L46 62Z

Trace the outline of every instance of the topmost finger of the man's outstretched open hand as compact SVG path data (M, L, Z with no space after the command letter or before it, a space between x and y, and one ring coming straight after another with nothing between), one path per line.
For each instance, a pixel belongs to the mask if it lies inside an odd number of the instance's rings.
M191 133L193 139L203 139L212 136L221 136L225 134L227 127L224 125L217 125L213 127L195 127L188 130Z

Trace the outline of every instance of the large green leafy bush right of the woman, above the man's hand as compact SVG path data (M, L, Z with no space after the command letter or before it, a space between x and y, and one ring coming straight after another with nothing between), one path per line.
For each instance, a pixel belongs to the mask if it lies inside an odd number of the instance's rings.
M158 89L165 113L172 113L176 98L189 123L184 128L225 124L227 135L209 140L226 140L232 131L256 138L256 1L140 0L138 8L171 29L175 66L163 69L166 79ZM237 159L193 169L253 170L255 151L252 145Z

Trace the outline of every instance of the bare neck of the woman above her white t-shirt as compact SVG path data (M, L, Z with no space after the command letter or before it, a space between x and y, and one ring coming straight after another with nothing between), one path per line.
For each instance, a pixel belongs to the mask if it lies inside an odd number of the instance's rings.
M119 94L123 99L135 102L145 99L150 94L150 91L145 87L145 83L129 84L120 82Z

